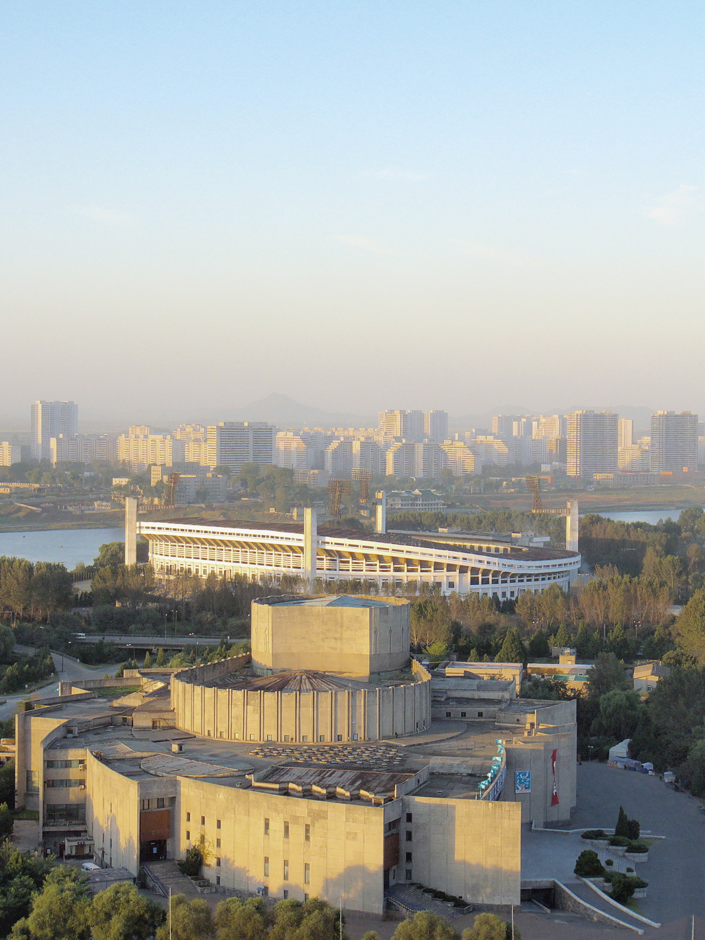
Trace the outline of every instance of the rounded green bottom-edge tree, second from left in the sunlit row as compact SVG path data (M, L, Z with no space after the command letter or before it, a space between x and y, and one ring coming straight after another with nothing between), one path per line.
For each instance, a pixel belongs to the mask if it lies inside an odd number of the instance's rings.
M149 940L164 921L164 909L127 882L100 891L90 906L93 940Z

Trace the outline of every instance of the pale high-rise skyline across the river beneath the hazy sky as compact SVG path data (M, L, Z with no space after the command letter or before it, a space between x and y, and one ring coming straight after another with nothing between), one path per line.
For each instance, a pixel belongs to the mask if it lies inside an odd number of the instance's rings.
M374 476L461 478L483 466L530 466L587 480L674 474L705 466L705 427L690 412L657 412L650 434L635 438L634 422L615 412L494 415L492 429L448 432L444 411L380 412L376 428L278 429L265 421L182 424L172 433L132 426L126 434L79 434L73 401L35 401L31 456L35 460L120 462L133 472L149 466L289 467L300 482L369 470ZM0 444L0 465L19 462L21 448ZM644 478L644 481L648 481Z

